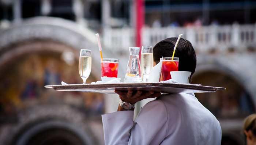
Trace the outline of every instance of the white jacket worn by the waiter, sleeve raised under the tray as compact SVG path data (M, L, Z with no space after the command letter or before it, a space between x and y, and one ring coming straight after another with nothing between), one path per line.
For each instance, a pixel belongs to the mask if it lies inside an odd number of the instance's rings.
M102 115L105 145L220 145L221 126L195 96L162 95L133 111Z

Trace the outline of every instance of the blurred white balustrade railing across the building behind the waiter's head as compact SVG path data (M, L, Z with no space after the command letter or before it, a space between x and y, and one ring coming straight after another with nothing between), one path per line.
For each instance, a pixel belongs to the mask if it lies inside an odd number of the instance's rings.
M256 24L252 25L226 25L202 27L144 27L142 45L154 46L157 42L183 34L182 38L188 39L194 48L200 52L212 49L226 51L233 48L243 51L247 47L256 47ZM110 49L128 49L135 45L135 30L132 28L106 28L103 31L103 43Z

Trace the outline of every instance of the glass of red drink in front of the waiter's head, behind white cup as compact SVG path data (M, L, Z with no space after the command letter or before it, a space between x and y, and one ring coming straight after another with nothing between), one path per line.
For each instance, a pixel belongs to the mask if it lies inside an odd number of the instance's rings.
M172 60L172 57L163 57L163 58L160 58L160 61L161 60L163 61L162 71L161 71L163 81L172 79L170 72L178 71L179 58L174 57Z

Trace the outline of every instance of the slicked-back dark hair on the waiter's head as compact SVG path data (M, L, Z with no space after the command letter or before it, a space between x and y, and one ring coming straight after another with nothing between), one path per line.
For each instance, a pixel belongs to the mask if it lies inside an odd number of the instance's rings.
M158 42L153 48L154 61L158 63L162 57L172 57L174 45L177 37L167 38ZM192 44L180 38L175 50L174 57L179 58L179 71L191 72L191 76L196 69L196 53Z

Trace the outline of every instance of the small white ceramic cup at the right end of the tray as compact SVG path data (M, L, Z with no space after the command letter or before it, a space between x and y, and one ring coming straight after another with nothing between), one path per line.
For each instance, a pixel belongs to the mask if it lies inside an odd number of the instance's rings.
M173 80L176 80L181 84L188 84L190 80L191 72L172 71L170 72L170 74Z

